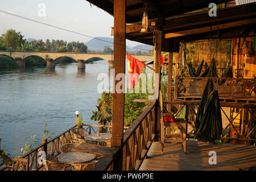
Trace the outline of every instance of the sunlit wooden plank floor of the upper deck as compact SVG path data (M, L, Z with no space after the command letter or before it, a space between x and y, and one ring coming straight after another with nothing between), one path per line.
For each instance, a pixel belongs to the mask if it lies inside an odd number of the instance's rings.
M217 164L210 165L209 151L216 151ZM159 142L152 143L148 158L142 163L140 171L192 171L192 170L248 170L256 167L256 146L231 143L205 143L187 141L187 154L180 143L164 143L160 154ZM255 170L255 169L254 169Z

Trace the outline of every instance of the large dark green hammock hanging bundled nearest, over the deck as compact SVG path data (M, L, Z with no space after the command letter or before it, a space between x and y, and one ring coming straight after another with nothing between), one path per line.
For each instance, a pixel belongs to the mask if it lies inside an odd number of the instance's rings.
M209 78L196 114L195 139L214 142L220 139L221 133L220 100L218 92L213 89L213 80Z

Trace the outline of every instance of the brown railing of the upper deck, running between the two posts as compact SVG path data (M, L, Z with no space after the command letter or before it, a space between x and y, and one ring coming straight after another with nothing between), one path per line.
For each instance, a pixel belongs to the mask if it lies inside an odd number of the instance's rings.
M123 135L123 145L102 170L136 171L146 158L147 152L155 140L155 101L139 115ZM122 155L119 155L122 154ZM122 158L119 158L122 156Z

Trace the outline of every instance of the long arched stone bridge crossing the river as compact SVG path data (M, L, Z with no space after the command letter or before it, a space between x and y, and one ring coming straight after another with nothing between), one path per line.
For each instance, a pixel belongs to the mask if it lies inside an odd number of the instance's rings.
M111 53L77 53L77 52L23 52L23 51L0 51L0 55L7 55L16 60L16 63L20 67L25 66L25 61L27 57L30 56L39 56L42 57L47 62L48 68L55 67L55 60L59 57L71 57L77 61L77 68L85 68L85 62L93 57L100 57L108 61L109 68L113 68L113 57L114 55ZM146 62L153 59L152 55L131 55L136 59Z

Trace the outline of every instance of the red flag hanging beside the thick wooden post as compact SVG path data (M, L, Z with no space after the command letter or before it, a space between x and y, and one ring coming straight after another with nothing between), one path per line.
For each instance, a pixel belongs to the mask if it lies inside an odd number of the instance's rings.
M128 62L129 88L133 90L134 86L139 83L139 74L141 74L145 64L127 53L126 56Z

